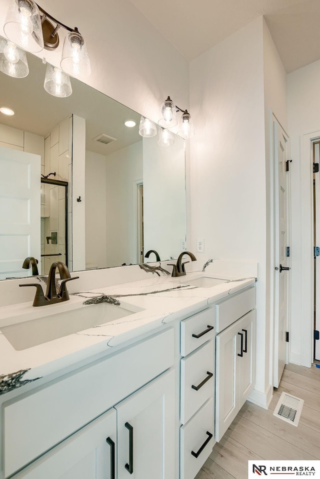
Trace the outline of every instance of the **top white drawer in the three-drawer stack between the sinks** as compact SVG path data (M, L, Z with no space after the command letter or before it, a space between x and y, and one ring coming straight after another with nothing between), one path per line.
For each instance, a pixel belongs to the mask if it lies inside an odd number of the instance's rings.
M205 309L181 321L181 356L186 356L214 336L214 309ZM197 336L197 337L196 337Z

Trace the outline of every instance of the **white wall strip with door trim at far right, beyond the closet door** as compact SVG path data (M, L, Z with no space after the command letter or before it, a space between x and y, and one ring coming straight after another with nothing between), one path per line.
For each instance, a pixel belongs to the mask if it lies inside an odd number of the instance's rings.
M291 148L291 341L290 360L310 365L310 333L313 329L311 156L309 136L320 130L320 61L287 75L287 114ZM308 135L309 133L309 135Z

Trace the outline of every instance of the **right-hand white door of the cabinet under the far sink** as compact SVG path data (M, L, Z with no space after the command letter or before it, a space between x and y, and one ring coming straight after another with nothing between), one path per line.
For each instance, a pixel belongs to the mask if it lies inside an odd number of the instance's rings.
M243 406L254 387L255 374L255 309L240 320L243 333L243 356L239 360L239 409Z

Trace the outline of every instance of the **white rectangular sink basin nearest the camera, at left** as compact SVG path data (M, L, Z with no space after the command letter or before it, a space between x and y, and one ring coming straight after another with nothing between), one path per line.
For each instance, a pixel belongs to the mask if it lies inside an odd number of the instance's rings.
M71 311L44 315L0 328L15 350L37 346L75 332L98 326L136 312L107 302L90 304ZM45 314L45 306L43 307Z

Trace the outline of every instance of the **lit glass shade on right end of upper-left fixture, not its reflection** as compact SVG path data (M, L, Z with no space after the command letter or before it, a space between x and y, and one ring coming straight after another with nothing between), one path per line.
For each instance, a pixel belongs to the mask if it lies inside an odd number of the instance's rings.
M64 38L60 66L68 75L80 79L91 73L86 43L76 29Z

